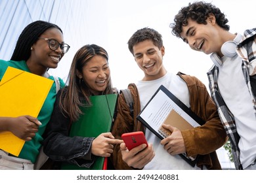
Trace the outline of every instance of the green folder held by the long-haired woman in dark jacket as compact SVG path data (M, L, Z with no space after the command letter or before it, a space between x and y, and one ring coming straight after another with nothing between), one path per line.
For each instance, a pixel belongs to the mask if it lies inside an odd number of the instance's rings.
M74 122L70 129L70 137L98 137L101 133L109 132L114 116L118 94L91 96L91 107L82 109L83 116ZM104 157L97 156L95 163L88 169L70 163L62 163L64 170L102 170Z

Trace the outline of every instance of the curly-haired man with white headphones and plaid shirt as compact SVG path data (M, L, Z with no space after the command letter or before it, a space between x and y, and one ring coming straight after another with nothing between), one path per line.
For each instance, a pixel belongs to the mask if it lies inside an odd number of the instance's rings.
M236 169L256 169L256 28L230 33L221 10L203 1L182 7L170 25L192 50L211 54L209 90L232 144Z

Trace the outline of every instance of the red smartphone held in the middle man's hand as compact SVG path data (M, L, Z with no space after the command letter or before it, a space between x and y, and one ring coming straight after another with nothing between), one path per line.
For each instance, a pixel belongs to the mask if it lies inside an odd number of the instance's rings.
M123 133L121 138L123 139L123 142L125 142L125 146L128 150L131 150L140 144L146 144L146 146L148 146L148 142L146 142L145 135L142 131Z

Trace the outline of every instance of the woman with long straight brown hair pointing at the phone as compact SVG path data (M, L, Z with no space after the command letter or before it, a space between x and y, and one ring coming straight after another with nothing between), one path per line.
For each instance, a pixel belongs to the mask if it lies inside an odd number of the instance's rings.
M95 44L81 47L72 61L68 86L57 93L43 141L45 154L54 161L66 161L79 167L90 167L96 156L109 157L114 144L123 142L114 139L112 133L102 133L96 138L68 135L70 124L86 115L81 107L90 105L91 95L113 92L106 50Z

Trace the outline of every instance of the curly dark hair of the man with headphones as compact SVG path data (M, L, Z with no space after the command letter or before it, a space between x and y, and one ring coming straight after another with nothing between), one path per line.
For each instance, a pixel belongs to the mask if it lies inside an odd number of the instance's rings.
M188 3L187 7L182 7L179 13L175 15L174 23L170 24L173 35L181 38L182 26L188 25L188 19L196 21L198 24L207 24L206 20L210 14L216 18L216 22L220 27L229 31L228 19L221 10L211 3L204 1L196 1Z

